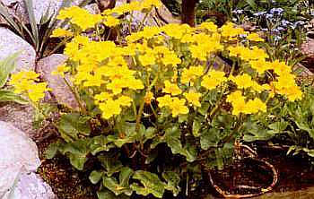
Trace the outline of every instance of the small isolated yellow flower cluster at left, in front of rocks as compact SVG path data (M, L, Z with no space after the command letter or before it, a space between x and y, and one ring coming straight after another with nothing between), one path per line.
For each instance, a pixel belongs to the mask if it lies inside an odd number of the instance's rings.
M39 74L31 71L12 74L10 84L14 86L15 93L28 96L32 102L43 99L45 91L48 91L47 83L39 82Z

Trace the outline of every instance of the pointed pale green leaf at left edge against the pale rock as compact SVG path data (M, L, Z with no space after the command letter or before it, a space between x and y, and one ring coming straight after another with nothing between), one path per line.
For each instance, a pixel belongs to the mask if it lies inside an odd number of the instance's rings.
M9 75L15 70L16 61L20 54L21 52L16 52L0 62L0 89L4 87Z

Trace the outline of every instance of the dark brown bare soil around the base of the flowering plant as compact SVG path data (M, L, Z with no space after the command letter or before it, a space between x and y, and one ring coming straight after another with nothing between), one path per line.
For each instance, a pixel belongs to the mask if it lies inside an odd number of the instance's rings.
M63 156L57 156L52 160L44 159L44 152L48 147L49 143L53 143L57 138L46 139L45 141L38 143L40 158L42 159L42 164L39 168L39 174L43 179L48 182L48 184L53 188L53 191L61 199L97 199L97 195L94 193L97 191L96 186L92 186L89 181L89 173L85 171L84 173L75 170L71 167L68 159ZM281 147L279 145L268 145L267 143L257 144L257 153L261 160L266 160L275 166L278 171L278 183L274 187L271 193L262 195L261 198L272 196L294 198L295 195L300 193L307 193L306 190L314 186L314 173L313 165L306 156L286 156L287 148ZM251 164L251 162L246 161L247 165L243 165L238 171L238 177L242 182L250 186L267 186L272 181L272 176L267 172L259 172L260 170ZM214 171L212 176L217 182L217 185L231 185L231 170L234 168L227 168L223 171ZM246 174L241 174L241 171L246 171ZM234 172L233 172L234 174ZM241 176L242 175L242 176ZM179 199L194 199L198 198L220 198L214 187L210 183L208 173L203 172L204 180L201 181L200 186L197 187L196 191L186 195L179 195L173 197L172 195L165 195L163 198L179 198ZM257 179L257 180L256 180ZM252 194L252 192L243 191L241 194ZM304 194L304 193L303 193ZM307 195L310 195L307 193ZM314 193L313 193L314 195ZM153 198L153 197L143 197L136 195L134 199L141 198Z

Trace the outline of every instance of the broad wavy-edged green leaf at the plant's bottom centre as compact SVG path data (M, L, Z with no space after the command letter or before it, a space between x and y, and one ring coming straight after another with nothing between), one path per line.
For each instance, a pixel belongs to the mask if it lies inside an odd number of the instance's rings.
M135 171L133 179L139 180L142 184L142 186L137 183L131 185L137 195L147 196L152 194L157 198L162 198L167 186L156 174L144 170Z

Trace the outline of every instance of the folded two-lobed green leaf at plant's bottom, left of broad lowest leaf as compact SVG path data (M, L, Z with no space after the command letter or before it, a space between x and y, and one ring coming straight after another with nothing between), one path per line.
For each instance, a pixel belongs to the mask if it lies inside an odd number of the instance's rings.
M121 169L119 173L119 182L115 177L103 177L102 184L107 187L115 195L132 195L132 190L129 186L129 179L134 171L127 167Z

